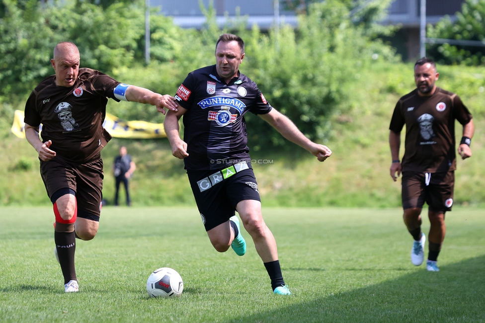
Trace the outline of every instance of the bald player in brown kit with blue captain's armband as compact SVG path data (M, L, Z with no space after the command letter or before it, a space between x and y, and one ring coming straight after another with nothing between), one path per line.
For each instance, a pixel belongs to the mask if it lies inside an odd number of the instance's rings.
M54 205L55 253L64 291L79 289L74 253L76 237L91 240L101 212L101 149L111 139L103 128L108 97L176 111L174 97L123 84L91 69L80 69L78 47L61 42L51 59L55 75L42 81L25 104L25 137L39 154L40 173ZM39 126L42 123L42 141Z

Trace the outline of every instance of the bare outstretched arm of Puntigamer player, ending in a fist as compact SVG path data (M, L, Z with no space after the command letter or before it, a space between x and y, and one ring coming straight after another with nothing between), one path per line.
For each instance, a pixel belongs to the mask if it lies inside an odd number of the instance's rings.
M328 147L316 144L298 129L298 127L284 114L277 111L275 108L271 109L269 113L259 115L263 120L268 122L275 128L283 137L306 149L312 155L316 156L319 161L324 161L332 154Z

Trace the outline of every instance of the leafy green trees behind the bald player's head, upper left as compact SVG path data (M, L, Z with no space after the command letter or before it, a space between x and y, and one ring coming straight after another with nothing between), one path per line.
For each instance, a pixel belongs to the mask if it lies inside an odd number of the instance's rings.
M78 45L81 67L104 73L132 67L145 58L144 1L0 0L0 95L25 94L53 74L50 59L60 41ZM169 18L151 17L151 51L167 62L183 55L183 34Z

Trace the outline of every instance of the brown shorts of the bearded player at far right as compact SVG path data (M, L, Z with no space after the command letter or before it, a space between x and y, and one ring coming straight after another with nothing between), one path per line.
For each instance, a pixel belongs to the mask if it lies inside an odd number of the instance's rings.
M403 172L403 208L422 208L424 202L433 212L451 211L455 172Z

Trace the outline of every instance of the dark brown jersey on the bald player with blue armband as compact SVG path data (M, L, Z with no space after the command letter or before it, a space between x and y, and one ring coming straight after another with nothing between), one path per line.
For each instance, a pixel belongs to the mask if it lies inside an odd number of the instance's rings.
M42 123L42 141L52 141L56 154L74 163L89 161L111 139L104 130L107 97L120 82L91 69L79 69L72 87L56 85L56 76L42 81L25 104L24 122Z

